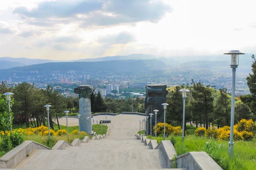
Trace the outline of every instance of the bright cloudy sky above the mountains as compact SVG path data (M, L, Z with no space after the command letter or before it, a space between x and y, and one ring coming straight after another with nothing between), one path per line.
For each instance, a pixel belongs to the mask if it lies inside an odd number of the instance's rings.
M255 53L253 0L1 0L0 57Z

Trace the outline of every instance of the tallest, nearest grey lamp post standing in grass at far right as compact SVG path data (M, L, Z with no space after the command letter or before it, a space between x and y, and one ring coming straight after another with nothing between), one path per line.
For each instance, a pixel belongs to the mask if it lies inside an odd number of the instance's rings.
M232 95L231 95L231 118L230 118L230 142L228 153L230 156L233 156L234 153L234 114L235 114L235 92L236 92L236 68L239 65L239 55L244 54L238 50L229 51L224 54L230 55L230 68L232 68Z

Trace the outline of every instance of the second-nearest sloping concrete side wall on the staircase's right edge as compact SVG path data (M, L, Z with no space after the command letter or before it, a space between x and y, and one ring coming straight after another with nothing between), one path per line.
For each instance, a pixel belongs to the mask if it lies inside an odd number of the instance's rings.
M166 161L167 168L171 168L171 159L177 154L171 141L161 141L155 149L160 149Z

